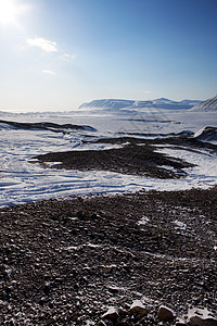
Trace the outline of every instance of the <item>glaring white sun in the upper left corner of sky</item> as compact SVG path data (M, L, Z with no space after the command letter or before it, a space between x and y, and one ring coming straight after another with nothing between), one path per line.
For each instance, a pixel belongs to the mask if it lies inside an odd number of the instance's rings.
M20 8L14 0L0 0L0 24L5 26L16 23Z

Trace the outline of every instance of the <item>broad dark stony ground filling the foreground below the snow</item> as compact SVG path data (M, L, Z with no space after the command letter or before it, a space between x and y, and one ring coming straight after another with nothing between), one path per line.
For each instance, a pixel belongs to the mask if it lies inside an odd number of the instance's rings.
M217 187L1 209L0 325L216 325L216 212Z

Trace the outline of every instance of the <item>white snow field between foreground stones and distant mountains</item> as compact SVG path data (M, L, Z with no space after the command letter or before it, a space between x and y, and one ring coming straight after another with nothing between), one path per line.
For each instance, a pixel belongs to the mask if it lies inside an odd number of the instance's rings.
M89 125L98 129L53 133L50 130L16 129L0 123L0 206L21 204L49 198L88 193L118 193L137 190L180 190L208 188L217 184L217 155L209 151L192 152L158 148L173 156L196 164L187 168L180 179L154 179L136 175L98 171L65 171L43 168L33 156L48 152L110 148L111 145L82 143L95 137L119 137L137 134L167 134L217 126L217 112L166 111L138 108L137 112L117 110L79 110L38 114L7 114L0 120L13 122L52 122ZM136 136L136 137L137 137ZM156 137L156 136L153 136ZM52 164L54 166L54 164Z

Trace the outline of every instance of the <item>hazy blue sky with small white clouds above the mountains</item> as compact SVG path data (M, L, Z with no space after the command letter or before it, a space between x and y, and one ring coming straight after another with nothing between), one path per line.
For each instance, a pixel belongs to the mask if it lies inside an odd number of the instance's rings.
M217 92L217 0L0 0L0 110Z

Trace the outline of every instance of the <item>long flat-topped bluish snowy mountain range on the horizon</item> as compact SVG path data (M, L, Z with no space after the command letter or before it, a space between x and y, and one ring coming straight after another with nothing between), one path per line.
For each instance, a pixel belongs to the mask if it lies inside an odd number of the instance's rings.
M82 103L78 109L137 109L137 108L156 108L169 110L189 110L201 101L196 100L182 100L180 102L169 99L161 98L152 101L135 101L135 100L120 100L120 99L103 99L93 100L91 102Z

